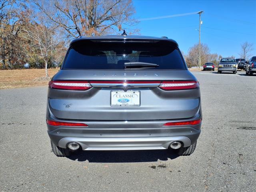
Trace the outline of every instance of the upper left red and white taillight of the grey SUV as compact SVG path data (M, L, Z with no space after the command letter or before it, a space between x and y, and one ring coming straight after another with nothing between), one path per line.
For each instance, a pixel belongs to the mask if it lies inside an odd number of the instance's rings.
M88 90L92 86L88 81L50 81L49 87L63 90Z

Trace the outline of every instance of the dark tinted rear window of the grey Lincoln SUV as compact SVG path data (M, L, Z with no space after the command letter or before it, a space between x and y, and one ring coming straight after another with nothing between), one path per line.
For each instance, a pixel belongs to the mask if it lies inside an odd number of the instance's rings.
M72 44L62 69L123 70L125 62L148 62L159 65L146 68L152 70L186 70L180 51L172 42L92 42L88 40Z

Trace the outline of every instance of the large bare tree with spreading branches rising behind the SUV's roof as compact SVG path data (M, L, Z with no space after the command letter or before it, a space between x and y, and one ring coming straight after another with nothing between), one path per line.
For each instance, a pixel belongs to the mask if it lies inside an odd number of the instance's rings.
M134 26L137 22L132 17L135 9L131 0L34 2L52 22L64 29L68 39L116 33L124 27Z

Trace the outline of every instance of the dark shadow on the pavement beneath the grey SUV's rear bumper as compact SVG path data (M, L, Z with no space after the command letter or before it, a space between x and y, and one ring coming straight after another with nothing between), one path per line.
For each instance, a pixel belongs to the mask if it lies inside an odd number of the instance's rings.
M131 151L78 151L67 158L70 160L95 163L157 162L175 159L178 155L171 150L131 150Z

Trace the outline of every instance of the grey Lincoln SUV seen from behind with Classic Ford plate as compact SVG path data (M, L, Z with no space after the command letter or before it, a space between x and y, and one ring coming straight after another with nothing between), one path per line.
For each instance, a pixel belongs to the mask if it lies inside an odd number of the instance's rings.
M77 38L49 82L46 122L56 156L78 149L190 155L201 121L199 82L168 38Z

